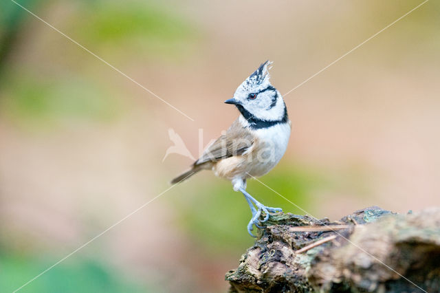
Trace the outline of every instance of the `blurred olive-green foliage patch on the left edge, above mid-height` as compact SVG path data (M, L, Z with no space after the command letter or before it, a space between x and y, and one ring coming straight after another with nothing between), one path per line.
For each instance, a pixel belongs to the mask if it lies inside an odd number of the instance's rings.
M19 124L53 127L63 120L108 121L123 109L113 93L76 75L47 79L14 74L4 83L3 94L2 114Z

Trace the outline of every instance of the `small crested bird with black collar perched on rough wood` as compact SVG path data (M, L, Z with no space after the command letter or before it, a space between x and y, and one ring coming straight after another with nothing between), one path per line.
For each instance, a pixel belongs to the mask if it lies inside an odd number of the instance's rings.
M234 191L243 193L250 206L252 218L247 228L252 237L255 237L254 225L262 228L261 223L267 221L271 213L283 210L254 199L246 191L247 180L265 175L278 164L292 129L283 96L270 83L270 65L271 61L262 63L237 87L233 97L225 100L239 110L239 117L206 147L188 171L171 181L177 184L202 170L212 170L218 177L230 180Z

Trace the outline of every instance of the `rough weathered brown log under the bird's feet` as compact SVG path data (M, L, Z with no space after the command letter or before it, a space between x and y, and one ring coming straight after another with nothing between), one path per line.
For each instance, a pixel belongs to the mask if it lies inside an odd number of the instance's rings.
M230 292L440 292L440 208L278 213L226 274Z

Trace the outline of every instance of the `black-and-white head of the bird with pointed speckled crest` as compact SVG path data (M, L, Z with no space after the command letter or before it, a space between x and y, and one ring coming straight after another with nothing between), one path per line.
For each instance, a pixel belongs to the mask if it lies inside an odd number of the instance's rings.
M234 98L225 100L227 104L236 105L246 119L278 121L287 115L283 97L270 84L268 67L271 64L270 61L261 64L239 85Z

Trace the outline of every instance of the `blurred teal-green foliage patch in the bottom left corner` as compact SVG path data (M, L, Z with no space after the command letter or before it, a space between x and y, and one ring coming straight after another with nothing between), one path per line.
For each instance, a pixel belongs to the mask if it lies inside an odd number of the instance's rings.
M52 262L51 262L52 261ZM53 265L52 257L25 257L0 254L0 292L12 292ZM19 292L157 292L135 283L117 270L98 261L64 261Z

